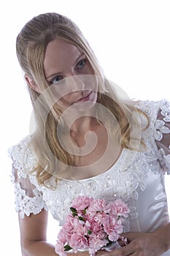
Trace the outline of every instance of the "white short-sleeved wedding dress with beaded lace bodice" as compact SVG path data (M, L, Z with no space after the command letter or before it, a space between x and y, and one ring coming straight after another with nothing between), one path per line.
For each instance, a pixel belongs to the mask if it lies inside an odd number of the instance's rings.
M56 189L39 186L29 170L36 159L29 145L29 135L9 149L12 158L12 181L15 186L15 205L24 214L38 214L49 210L59 225L63 225L72 200L78 195L116 198L128 203L131 213L125 231L152 232L169 223L165 173L170 174L170 103L141 101L140 108L150 118L150 126L142 132L147 151L123 149L119 159L105 173L79 181L60 180ZM53 185L50 178L46 185ZM170 256L170 250L163 256Z

